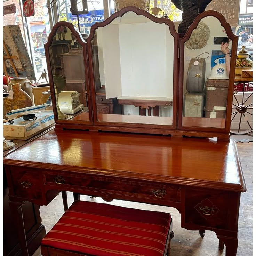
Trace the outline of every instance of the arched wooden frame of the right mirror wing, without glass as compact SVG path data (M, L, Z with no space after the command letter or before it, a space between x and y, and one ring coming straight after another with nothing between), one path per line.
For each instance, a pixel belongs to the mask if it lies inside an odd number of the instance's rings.
M184 53L185 53L185 42L190 38L193 30L197 28L198 23L201 19L205 17L213 16L219 20L221 26L226 30L227 37L232 40L231 46L231 60L230 60L230 76L229 76L229 88L227 96L227 106L226 106L226 120L225 128L211 128L211 127L195 127L195 126L183 126L183 83L184 83ZM178 99L178 129L185 131L195 131L198 133L205 133L206 137L209 137L210 134L216 137L228 138L228 133L230 132L230 122L231 122L231 113L232 113L232 101L233 101L233 86L235 78L235 62L237 57L237 44L238 36L234 35L231 26L226 22L224 16L217 11L204 11L199 16L197 16L193 23L187 29L184 37L180 39L180 64L179 64L179 99ZM223 135L219 134L223 133ZM226 134L226 135L225 135ZM203 134L201 136L204 136Z

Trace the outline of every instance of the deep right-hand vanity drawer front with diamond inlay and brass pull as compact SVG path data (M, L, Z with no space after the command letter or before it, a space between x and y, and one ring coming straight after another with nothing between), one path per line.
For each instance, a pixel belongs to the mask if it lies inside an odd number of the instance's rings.
M186 190L185 222L225 229L230 211L228 192Z

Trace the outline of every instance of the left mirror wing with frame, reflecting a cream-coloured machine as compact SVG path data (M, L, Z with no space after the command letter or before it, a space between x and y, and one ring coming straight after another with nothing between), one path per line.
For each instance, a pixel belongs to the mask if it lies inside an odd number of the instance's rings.
M45 49L56 119L90 122L86 42L82 35L71 23L58 22Z

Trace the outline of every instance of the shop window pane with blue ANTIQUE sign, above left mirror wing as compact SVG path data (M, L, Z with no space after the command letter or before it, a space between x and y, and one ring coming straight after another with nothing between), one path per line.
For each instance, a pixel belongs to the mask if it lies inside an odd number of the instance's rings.
M82 34L89 34L90 28L95 22L104 21L103 0L88 0L88 14L79 14L79 29ZM82 6L82 0L78 0L78 7ZM69 21L78 28L77 15L70 11L70 0L58 2L59 21Z

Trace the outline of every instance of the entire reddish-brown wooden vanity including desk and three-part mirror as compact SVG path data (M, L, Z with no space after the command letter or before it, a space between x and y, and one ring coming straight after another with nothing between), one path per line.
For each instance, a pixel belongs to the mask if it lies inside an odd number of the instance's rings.
M211 33L205 46L194 49L193 31L200 21ZM78 42L83 53L86 90L81 91L86 91L89 110L66 119L57 108L54 89L62 84L54 88L50 58L58 29L63 26L66 38ZM59 191L72 191L106 201L174 207L181 214L181 227L200 230L201 234L214 231L220 248L223 243L226 246L226 256L236 256L240 194L246 191L237 147L229 140L238 37L217 11L201 13L182 36L168 18L157 18L134 6L94 24L87 42L69 22L53 26L45 52L55 130L4 158L23 255L27 256L24 225L17 214L22 203L48 205ZM219 50L213 43L216 36L231 40L227 97L224 106L213 102L213 112L221 107L225 118L217 118L215 112L210 118L203 112L201 116L185 115L183 98L189 93L186 86L189 88L190 82L187 56L194 58L202 51L211 55L212 50ZM205 66L202 75L207 80L210 58ZM224 67L219 71L225 72ZM114 101L119 110L122 105L122 112L115 111ZM196 110L199 106L203 110L203 104L192 101ZM153 115L146 115L145 110L152 107ZM207 139L212 137L218 140Z

